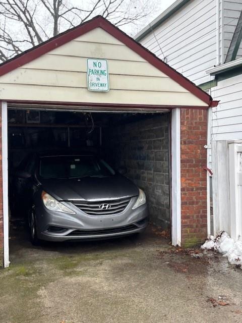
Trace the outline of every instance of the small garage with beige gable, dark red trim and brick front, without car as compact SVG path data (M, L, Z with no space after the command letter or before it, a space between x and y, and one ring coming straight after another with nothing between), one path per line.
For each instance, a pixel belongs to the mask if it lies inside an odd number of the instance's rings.
M132 38L96 17L2 64L0 90L4 266L11 173L43 148L95 150L145 191L173 245L206 238L204 146L217 102Z

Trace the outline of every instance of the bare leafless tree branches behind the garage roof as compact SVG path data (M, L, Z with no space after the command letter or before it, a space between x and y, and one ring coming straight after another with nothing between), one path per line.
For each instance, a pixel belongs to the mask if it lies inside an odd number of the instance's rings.
M142 1L146 1L143 6ZM96 15L136 25L157 0L0 0L0 62Z

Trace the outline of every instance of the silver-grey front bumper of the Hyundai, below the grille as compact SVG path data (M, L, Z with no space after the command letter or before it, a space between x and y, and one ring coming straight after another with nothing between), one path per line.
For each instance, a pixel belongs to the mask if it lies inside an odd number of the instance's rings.
M144 204L132 207L137 197L131 198L127 208L120 213L106 216L90 216L73 204L65 202L76 214L47 210L43 203L36 205L37 236L47 241L89 240L125 236L140 233L148 225L148 208ZM53 232L51 227L63 228Z

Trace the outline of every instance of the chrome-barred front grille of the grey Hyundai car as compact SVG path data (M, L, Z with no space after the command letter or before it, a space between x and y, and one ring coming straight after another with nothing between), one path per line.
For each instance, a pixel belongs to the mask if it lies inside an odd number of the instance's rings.
M95 202L88 202L88 201L70 201L75 206L77 206L83 212L89 214L90 216L105 216L111 215L115 213L123 212L126 207L128 206L131 198L119 198L115 200L106 200L106 201L95 201ZM101 205L108 204L110 207L108 209L100 208Z

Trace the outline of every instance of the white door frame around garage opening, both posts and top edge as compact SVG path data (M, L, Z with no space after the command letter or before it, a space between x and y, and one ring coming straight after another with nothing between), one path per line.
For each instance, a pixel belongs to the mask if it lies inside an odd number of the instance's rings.
M10 103L12 107L12 104ZM71 106L70 106L71 107ZM15 105L18 109L18 105ZM19 109L28 109L28 104L24 106L19 106ZM38 109L37 106L33 107L30 105L30 109ZM41 109L41 107L39 107ZM57 109L51 105L49 108L42 107L43 110L58 110L58 111L70 111L74 109L67 109L67 106ZM88 109L88 108L87 108ZM98 112L109 112L108 110L99 109ZM83 107L76 107L76 111L85 111ZM90 111L95 111L93 107L89 108ZM123 110L124 109L120 109ZM120 110L113 107L112 112L120 112ZM137 113L144 113L144 107L142 109L132 109ZM126 111L126 110L125 110ZM148 107L146 112L167 112L168 110L156 109L153 107ZM126 111L128 112L128 110ZM172 173L171 177L171 226L172 226L172 245L181 244L181 226L180 226L180 109L175 108L171 113L171 167L170 171ZM9 266L9 198L8 198L8 103L2 101L2 171L3 171L3 223L4 223L4 267Z

